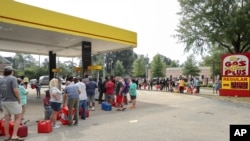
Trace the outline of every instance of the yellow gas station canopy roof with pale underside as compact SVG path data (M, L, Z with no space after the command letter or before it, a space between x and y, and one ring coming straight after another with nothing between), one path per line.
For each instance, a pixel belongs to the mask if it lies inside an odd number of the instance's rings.
M105 25L13 0L0 0L0 51L62 57L81 56L81 43L92 43L92 53L132 49L133 31Z

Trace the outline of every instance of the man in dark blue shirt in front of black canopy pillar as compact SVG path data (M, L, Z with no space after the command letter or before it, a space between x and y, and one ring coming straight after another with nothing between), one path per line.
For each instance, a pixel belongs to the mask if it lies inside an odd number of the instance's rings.
M88 107L91 107L91 110L95 110L95 90L97 88L97 83L92 80L92 77L89 77L89 81L86 83L86 92L88 96Z

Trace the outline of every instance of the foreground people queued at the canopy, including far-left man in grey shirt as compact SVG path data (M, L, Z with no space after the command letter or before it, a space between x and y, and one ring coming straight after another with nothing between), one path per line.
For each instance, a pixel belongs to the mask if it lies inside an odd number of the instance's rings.
M22 86L23 81L14 77L14 69L6 67L4 69L5 77L0 81L1 104L0 110L5 115L4 129L9 130L9 121L11 114L14 118L14 131L12 136L5 135L5 140L15 139L24 140L17 136L17 129L24 119L25 105L27 103L27 90ZM86 120L86 111L95 110L95 92L99 90L99 104L106 101L117 108L117 111L125 111L128 103L132 103L129 108L136 108L137 84L135 79L121 77L106 77L104 81L99 79L99 83L88 78L68 77L65 86L59 87L57 78L52 78L49 82L49 89L45 91L42 99L45 112L45 118L51 121L53 128L60 128L57 119L63 107L68 107L68 126L77 126L78 118ZM102 99L104 95L104 99ZM129 97L130 101L128 101ZM82 110L79 116L79 111Z

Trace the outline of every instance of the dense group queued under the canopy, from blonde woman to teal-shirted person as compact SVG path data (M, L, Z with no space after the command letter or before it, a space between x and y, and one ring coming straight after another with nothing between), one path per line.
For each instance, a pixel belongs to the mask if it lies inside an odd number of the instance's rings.
M78 125L78 113L82 110L80 118L86 120L86 111L95 111L95 93L98 88L99 104L106 101L117 108L117 111L124 111L128 105L128 93L132 105L129 108L136 107L136 88L135 80L131 81L128 78L121 77L106 77L105 81L102 78L96 83L92 77L88 78L73 78L68 77L66 85L61 90L58 89L58 79L53 78L49 83L50 89L43 99L44 109L47 116L50 115L50 120L54 128L59 128L56 124L57 116L62 107L68 107L68 126ZM104 99L103 99L104 95ZM48 104L49 103L49 104ZM50 108L50 109L49 109Z

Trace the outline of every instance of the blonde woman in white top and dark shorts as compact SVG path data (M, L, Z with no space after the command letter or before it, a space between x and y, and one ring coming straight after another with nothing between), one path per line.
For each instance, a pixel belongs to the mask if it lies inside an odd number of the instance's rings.
M58 80L52 78L49 83L50 87L50 106L52 108L52 114L50 117L53 128L59 128L59 125L56 125L57 114L61 110L62 105L62 92L58 89Z

